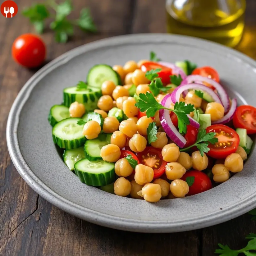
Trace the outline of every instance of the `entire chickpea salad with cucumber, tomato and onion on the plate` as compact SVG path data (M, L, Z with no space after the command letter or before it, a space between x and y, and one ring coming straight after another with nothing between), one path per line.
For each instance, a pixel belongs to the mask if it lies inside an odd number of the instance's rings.
M93 66L48 116L82 183L148 202L195 195L241 172L256 108L237 106L212 67L188 60Z

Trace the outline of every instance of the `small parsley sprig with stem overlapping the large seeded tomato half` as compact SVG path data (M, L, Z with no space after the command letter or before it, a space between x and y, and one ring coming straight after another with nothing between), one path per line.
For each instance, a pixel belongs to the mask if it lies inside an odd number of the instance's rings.
M215 144L218 142L218 138L214 137L215 135L215 132L206 133L206 130L203 129L198 132L196 143L189 147L180 149L180 152L187 151L189 148L196 146L200 151L201 156L204 156L204 153L207 153L210 150L208 145L210 143Z

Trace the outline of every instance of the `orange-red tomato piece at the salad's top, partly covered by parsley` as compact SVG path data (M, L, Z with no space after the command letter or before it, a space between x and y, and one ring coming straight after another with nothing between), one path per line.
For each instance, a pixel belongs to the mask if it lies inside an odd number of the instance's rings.
M141 66L141 70L143 72L150 71L151 69L157 69L161 68L161 71L158 72L158 76L162 78L162 83L163 84L168 84L170 83L170 76L173 74L173 70L170 68L167 68L163 65L158 64L157 62L154 61L147 61L144 62Z

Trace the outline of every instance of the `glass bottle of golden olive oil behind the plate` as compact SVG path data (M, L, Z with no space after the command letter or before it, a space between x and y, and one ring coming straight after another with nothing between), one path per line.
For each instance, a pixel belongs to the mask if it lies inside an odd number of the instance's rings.
M166 0L167 31L234 47L243 34L246 0Z

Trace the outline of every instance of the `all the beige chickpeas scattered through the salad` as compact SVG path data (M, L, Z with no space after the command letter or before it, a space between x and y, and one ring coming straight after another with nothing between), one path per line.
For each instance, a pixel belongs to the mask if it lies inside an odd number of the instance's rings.
M174 144L163 132L159 120L159 111L154 116L154 122L158 126L156 134L157 140L151 143L152 147L162 150L163 160L168 162L165 167L165 178L153 180L154 170L146 165L138 164L135 167L134 179L130 182L127 177L134 172L127 159L120 158L121 149L129 146L133 152L143 152L147 146L147 127L153 122L152 118L142 116L136 117L139 109L135 106L135 99L129 97L128 89L135 84L136 94L149 91L149 81L140 67L145 60L140 62L128 61L122 67L113 66L113 69L119 73L124 86L116 86L112 81L105 81L101 90L103 96L98 101L98 108L94 112L102 115L103 132L113 133L109 145L101 148L100 156L104 161L115 162L115 173L119 178L114 183L114 193L119 196L128 196L137 199L145 199L149 202L157 202L161 198L181 198L189 191L187 182L181 180L187 170L205 170L208 166L208 157L206 154L200 155L195 151L190 156L188 153L180 152L179 147ZM170 89L168 93L171 93ZM156 97L161 102L164 95L159 94ZM180 101L187 104L194 104L195 107L201 107L205 113L211 114L211 120L216 121L224 116L224 108L216 102L207 103L198 97L194 91L189 91L185 99ZM107 112L113 107L123 110L128 117L127 120L119 123L118 119L108 116ZM69 108L71 117L81 117L85 113L84 105L74 102ZM192 115L192 113L191 113ZM87 139L97 138L101 132L101 126L96 121L88 121L83 127L83 134ZM242 147L238 147L237 152L229 155L226 159L218 159L212 168L213 179L215 182L225 182L230 177L230 172L236 173L243 169L243 161L247 154ZM170 182L171 180L171 182ZM152 183L153 182L153 183Z

